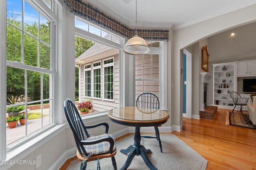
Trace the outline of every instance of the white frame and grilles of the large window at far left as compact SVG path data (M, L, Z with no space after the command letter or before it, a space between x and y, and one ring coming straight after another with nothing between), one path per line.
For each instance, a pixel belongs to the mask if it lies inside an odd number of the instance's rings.
M3 3L4 4L4 17L5 17L5 29L6 29L6 25L9 24L11 26L14 26L12 25L11 23L7 23L7 20L6 20L6 0L4 0L5 2ZM4 62L6 63L5 65L5 72L6 72L6 67L7 66L10 66L10 67L13 67L13 68L19 68L19 69L24 69L25 72L27 72L27 70L30 70L30 71L36 71L36 72L41 72L41 73L46 73L46 74L50 74L52 76L50 76L50 79L52 79L53 81L50 81L50 96L49 96L49 99L43 99L42 96L41 96L41 100L38 100L38 101L32 101L32 102L26 102L26 103L22 103L22 104L16 104L16 105L25 105L26 106L26 109L27 109L27 106L28 104L32 104L32 103L35 103L35 102L44 102L44 101L52 101L52 115L50 115L50 117L52 116L52 123L50 123L49 125L45 126L45 127L41 127L41 129L38 129L37 131L33 132L33 133L30 133L30 134L26 134L25 137L22 137L21 139L18 139L17 141L14 141L13 143L9 144L8 146L0 146L2 147L4 150L1 150L3 152L9 152L10 150L13 150L14 148L16 147L19 147L22 143L25 143L26 141L29 141L30 139L33 139L36 135L39 135L43 132L45 132L46 130L50 129L51 127L53 127L54 125L56 125L56 100L54 100L57 96L56 96L56 85L57 85L57 72L56 72L56 67L55 67L55 58L56 58L56 55L55 55L55 26L56 26L56 21L58 20L58 17L56 16L56 14L50 9L48 8L48 6L46 4L44 4L44 2L42 1L33 1L33 0L26 0L26 2L28 4L30 4L30 6L32 6L33 8L35 8L36 11L38 11L46 20L50 21L51 24L50 24L50 46L47 45L48 47L50 47L50 70L48 69L44 69L44 68L40 68L40 67L35 67L35 66L30 66L30 65L26 65L26 64L22 64L20 62L13 62L13 61L7 61ZM22 12L24 12L24 5L23 5L23 1L22 1ZM24 13L22 13L22 15L24 15ZM39 15L38 15L39 16ZM40 20L40 19L39 19ZM22 21L24 22L24 20ZM22 31L22 34L26 34L30 37L34 37L33 35L30 35L29 33L26 33L26 31L23 30L23 27L22 29L14 26L16 29ZM5 31L6 33L6 31ZM36 38L36 41L40 43L42 43L41 41L39 41L39 35L40 33L38 32L38 38ZM5 38L6 38L6 35L5 35ZM45 43L43 43L45 44ZM46 44L45 44L46 45ZM24 47L24 42L22 42L22 47ZM38 50L40 51L40 46L38 46ZM5 50L6 52L6 45L5 45ZM38 51L38 63L40 63L40 52ZM6 56L6 53L5 55ZM22 62L24 61L24 54L22 53ZM40 66L40 65L38 65ZM6 79L6 78L5 78ZM41 88L43 86L43 81L42 81L42 78L41 78ZM5 85L5 88L6 88L6 85ZM27 85L25 87L25 90L26 90L26 94L27 94ZM4 91L5 92L5 95L6 96L6 90ZM42 94L42 93L41 93ZM27 95L26 95L27 96ZM52 96L52 97L51 97ZM16 105L12 105L12 106L16 106ZM6 108L7 106L5 106ZM9 106L8 106L9 107ZM42 107L43 109L43 107ZM5 115L4 115L5 117ZM6 122L6 119L4 120ZM27 121L27 120L26 120ZM26 123L27 124L27 123ZM4 123L5 125L5 123ZM4 128L4 130L6 130ZM6 141L6 136L3 137L3 140ZM2 145L3 143L1 143ZM4 143L6 145L6 142ZM6 150L6 151L5 151ZM6 156L6 154L0 156L0 158L4 158Z

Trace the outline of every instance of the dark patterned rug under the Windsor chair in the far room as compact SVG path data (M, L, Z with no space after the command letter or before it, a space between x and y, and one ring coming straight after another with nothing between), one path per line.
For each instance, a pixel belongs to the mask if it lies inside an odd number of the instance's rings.
M256 129L256 126L254 126L252 121L250 121L248 113L241 114L236 112L229 112L229 124L233 126Z

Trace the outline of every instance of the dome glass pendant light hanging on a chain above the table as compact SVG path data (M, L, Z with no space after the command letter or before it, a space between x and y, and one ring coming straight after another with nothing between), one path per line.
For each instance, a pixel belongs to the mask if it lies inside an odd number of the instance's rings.
M123 49L124 53L131 55L146 54L150 52L146 41L137 34L137 0L136 0L136 27L135 35L129 39Z

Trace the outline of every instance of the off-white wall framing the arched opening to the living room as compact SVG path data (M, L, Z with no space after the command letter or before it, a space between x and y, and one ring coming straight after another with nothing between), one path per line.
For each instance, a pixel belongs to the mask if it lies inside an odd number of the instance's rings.
M174 31L174 55L172 55L172 98L171 119L174 125L182 125L182 75L181 75L181 49L184 49L202 39L256 21L256 5L248 6L200 23L196 23ZM170 88L170 85L168 86Z

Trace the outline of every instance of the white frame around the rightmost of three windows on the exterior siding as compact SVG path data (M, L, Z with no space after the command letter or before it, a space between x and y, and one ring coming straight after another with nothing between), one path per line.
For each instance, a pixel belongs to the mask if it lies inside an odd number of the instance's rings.
M104 61L106 60L110 60L110 59L113 59L113 63L108 63L108 64L104 64ZM103 100L106 100L106 101L110 101L110 102L114 102L115 101L115 57L109 57L107 59L103 59L102 60L102 64L103 64ZM113 99L106 99L105 98L105 72L104 72L104 68L105 67L108 67L108 66L113 66Z

